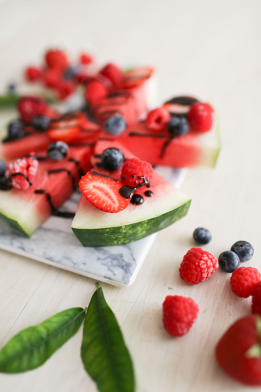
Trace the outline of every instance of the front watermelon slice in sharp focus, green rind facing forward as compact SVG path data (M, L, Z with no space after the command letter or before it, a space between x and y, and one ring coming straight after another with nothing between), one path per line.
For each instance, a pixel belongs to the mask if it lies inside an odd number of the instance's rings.
M99 141L92 158L93 170L108 173L97 163L99 156L109 147L121 149L125 158L134 156L119 142ZM109 175L119 179L121 169ZM121 245L164 229L182 218L189 209L191 200L156 172L149 188L153 196L146 196L146 191L148 189L144 187L135 192L144 198L142 204L129 203L126 209L115 214L100 211L82 195L72 222L74 234L83 246Z

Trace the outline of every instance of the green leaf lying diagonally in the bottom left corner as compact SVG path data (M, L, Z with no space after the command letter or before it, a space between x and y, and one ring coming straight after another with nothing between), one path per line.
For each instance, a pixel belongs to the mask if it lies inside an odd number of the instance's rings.
M0 372L20 373L41 366L79 330L85 309L63 310L15 335L0 351Z

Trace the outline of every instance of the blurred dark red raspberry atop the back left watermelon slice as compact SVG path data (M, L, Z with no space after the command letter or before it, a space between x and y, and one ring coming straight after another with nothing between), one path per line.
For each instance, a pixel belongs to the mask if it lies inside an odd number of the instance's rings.
M31 123L35 116L45 115L48 111L47 102L37 96L23 96L17 104L17 109L24 122Z

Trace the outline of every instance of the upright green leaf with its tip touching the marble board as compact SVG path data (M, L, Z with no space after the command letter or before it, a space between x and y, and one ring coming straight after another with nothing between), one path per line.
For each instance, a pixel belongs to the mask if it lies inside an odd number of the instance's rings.
M98 284L86 312L81 358L100 392L135 390L130 354Z

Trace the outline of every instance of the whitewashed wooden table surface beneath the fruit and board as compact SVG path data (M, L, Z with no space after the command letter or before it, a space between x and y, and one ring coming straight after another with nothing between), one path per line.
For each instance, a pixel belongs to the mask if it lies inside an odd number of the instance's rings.
M261 270L261 2L259 0L5 0L0 1L0 91L39 64L48 47L72 59L83 50L99 64L155 65L159 99L194 94L213 103L222 149L216 169L190 170L182 191L192 203L185 218L158 233L129 288L102 283L130 349L139 392L245 392L225 376L214 347L226 328L250 314L250 298L230 290L230 274L189 285L180 261L195 246L196 227L212 232L204 246L218 258L238 240L254 247L245 263ZM13 116L1 112L1 123ZM69 307L88 305L94 280L0 251L0 345L21 329ZM169 294L200 307L182 338L162 325ZM2 392L95 392L80 359L81 331L42 367L0 374ZM261 390L257 388L255 390ZM112 391L113 392L113 391Z

